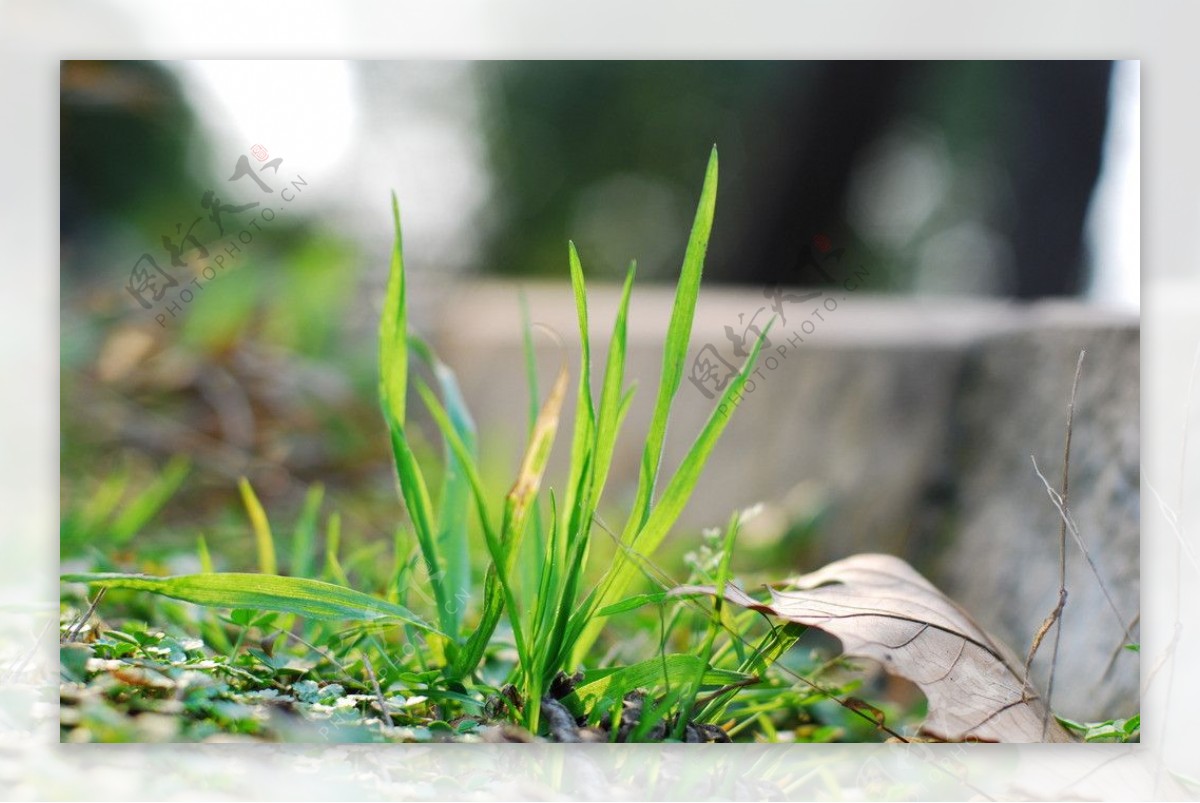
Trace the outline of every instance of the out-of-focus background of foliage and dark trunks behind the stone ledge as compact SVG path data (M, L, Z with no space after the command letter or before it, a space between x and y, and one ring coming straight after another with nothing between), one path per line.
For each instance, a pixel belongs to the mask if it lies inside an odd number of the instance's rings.
M569 238L596 282L632 258L640 281L671 281L713 143L708 282L818 282L799 254L826 235L884 266L874 292L1079 295L1112 74L1104 61L65 61L64 558L178 570L199 532L218 568L247 568L241 475L284 522L322 483L364 561L390 544L371 335L391 187L418 326L446 312L455 278L565 280ZM247 163L272 190L292 181L294 208L211 281L205 263L173 266L166 242L193 218L198 245L238 245L257 208L217 234L204 198L266 198L229 184L253 145L282 158L274 173L266 156ZM142 254L178 281L151 308L127 288ZM494 473L497 487L511 477Z

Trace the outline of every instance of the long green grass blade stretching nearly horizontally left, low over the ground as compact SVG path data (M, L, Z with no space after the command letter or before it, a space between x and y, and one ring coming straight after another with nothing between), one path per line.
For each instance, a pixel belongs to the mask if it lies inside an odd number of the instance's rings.
M208 607L295 613L311 619L395 618L427 633L437 630L408 609L352 588L307 577L218 573L151 577L127 574L67 574L62 582L148 591Z

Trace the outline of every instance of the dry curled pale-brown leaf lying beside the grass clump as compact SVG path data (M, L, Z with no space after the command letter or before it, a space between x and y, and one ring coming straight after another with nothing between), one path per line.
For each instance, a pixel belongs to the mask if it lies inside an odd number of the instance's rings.
M685 586L673 593L714 593ZM1026 684L1020 659L958 605L890 555L856 555L794 577L772 603L733 586L744 607L824 630L846 655L878 661L929 700L923 730L946 741L1070 742Z

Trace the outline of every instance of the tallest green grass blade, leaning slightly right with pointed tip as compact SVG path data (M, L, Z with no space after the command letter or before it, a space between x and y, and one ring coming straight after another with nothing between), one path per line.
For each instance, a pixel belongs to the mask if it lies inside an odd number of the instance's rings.
M704 268L704 253L708 251L708 236L713 229L713 212L716 208L716 148L708 160L704 173L704 186L696 205L696 218L692 222L691 235L688 238L688 250L684 252L683 268L679 271L679 283L676 287L674 306L671 310L671 323L667 325L666 342L662 347L662 374L659 378L659 395L654 401L654 413L650 429L646 435L646 449L642 453L642 467L637 480L637 496L629 517L626 533L637 532L649 516L658 483L659 463L662 460L662 448L667 435L667 419L671 415L671 402L674 401L679 383L683 380L684 362L688 359L688 346L691 340L691 323L696 314L696 299L700 295L700 277Z

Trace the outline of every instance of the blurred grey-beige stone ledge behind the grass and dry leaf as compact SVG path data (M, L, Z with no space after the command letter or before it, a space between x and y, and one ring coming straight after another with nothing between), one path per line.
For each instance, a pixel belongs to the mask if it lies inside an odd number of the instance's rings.
M802 290L788 289L799 294ZM530 316L559 332L574 371L577 323L570 287L526 284ZM613 459L606 495L616 511L636 481L673 287L634 288L626 380L637 397ZM600 386L619 288L589 287L593 388ZM485 450L516 466L528 418L518 287L454 286L437 307L414 310L458 373ZM1069 507L1117 612L1139 611L1139 320L1076 302L923 299L836 293L784 301L769 337L785 348L746 394L713 453L674 538L695 539L739 508L764 503L743 543L787 538L794 574L829 559L884 551L911 561L1019 653L1054 607L1058 514L1031 456L1057 487L1067 403L1080 349ZM770 314L762 289L701 290L690 368L712 343L726 359L725 326L743 331ZM812 314L820 308L822 319ZM745 316L739 322L739 314ZM418 323L420 326L421 324ZM562 348L535 335L542 389ZM773 353L764 350L764 355ZM740 362L740 360L739 360ZM574 400L574 391L571 394ZM684 378L664 473L676 466L715 402ZM571 403L563 420L570 421ZM556 447L551 478L565 465ZM558 474L556 474L558 472ZM815 539L805 538L805 522ZM1068 591L1054 705L1097 719L1138 709L1138 655L1121 651L1117 615L1068 535ZM1136 640L1136 629L1133 631ZM1115 660L1110 660L1116 654ZM1045 685L1049 643L1037 677ZM1112 666L1110 667L1110 663Z

